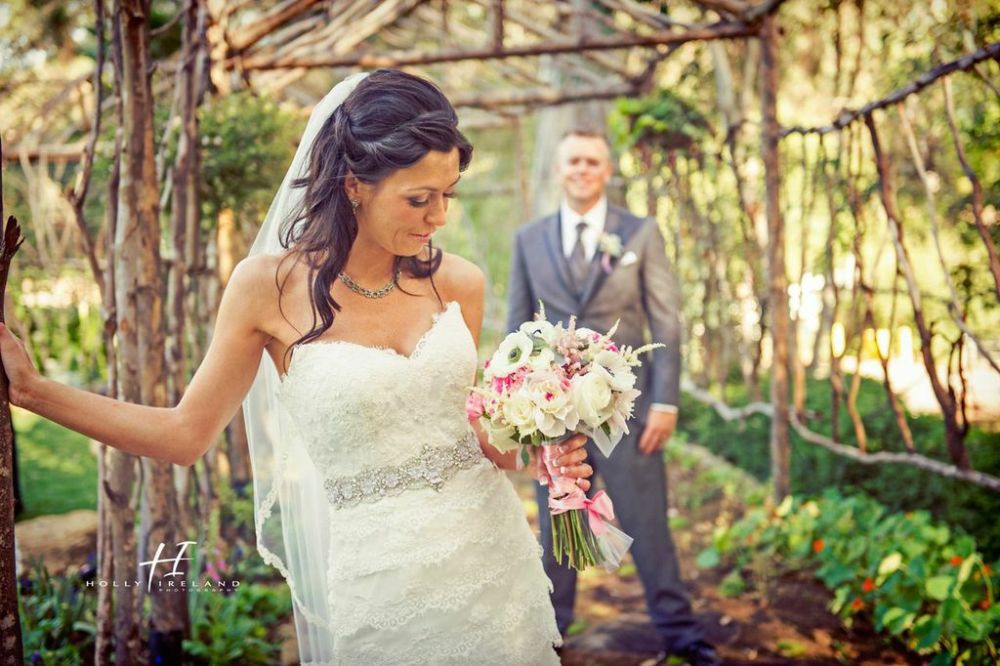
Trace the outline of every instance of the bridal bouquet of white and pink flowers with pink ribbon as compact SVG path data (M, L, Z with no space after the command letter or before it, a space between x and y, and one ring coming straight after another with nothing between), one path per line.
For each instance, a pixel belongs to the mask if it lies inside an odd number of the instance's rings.
M588 498L553 462L553 447L575 433L592 438L608 456L628 432L640 393L632 368L640 354L662 345L619 348L611 339L617 327L601 335L578 328L575 317L568 327L551 324L543 306L500 343L484 365L485 385L473 387L466 401L469 420L481 419L497 450L541 447L554 555L559 563L567 556L577 570L614 569L632 543L608 522L614 508L607 494ZM527 449L521 453L527 457Z

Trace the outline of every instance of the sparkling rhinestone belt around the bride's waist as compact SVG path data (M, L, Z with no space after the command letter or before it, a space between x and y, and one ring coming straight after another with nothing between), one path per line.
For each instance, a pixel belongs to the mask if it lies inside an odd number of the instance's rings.
M459 470L483 460L479 438L472 430L451 446L424 444L420 453L399 465L369 467L359 474L337 476L323 483L327 499L337 509L374 502L404 490L431 487L441 490Z

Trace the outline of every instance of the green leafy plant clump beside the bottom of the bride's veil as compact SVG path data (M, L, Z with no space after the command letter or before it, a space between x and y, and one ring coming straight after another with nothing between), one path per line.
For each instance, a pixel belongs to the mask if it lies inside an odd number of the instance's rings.
M199 664L272 664L281 646L269 632L292 612L291 595L284 585L241 584L231 594L205 595L192 617L193 638L184 650Z

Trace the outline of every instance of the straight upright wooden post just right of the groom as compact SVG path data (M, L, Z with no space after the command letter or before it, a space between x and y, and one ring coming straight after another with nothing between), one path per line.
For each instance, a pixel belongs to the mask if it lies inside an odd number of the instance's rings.
M771 312L771 479L775 497L788 495L788 285L785 275L785 230L780 207L781 172L778 160L778 19L764 17L761 25L762 152L766 183L768 306Z

